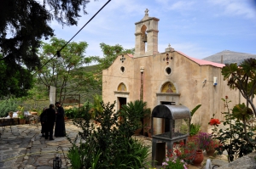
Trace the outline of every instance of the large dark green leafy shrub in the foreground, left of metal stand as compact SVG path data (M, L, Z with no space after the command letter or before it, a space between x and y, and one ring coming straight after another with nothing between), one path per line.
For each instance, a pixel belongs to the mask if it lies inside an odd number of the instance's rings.
M74 119L73 123L82 128L77 138L84 142L78 145L79 159L82 167L85 168L143 168L146 167L149 148L139 141L131 138L133 131L122 116L119 121L119 112L114 112L114 104L103 104L102 112L96 111L95 120L100 126L90 123L90 105L86 104L81 115L83 119ZM78 140L70 140L75 146ZM70 154L77 154L77 151L70 149ZM72 156L72 155L71 155ZM72 159L70 158L72 161ZM78 163L78 162L76 162ZM76 168L73 166L73 168Z

